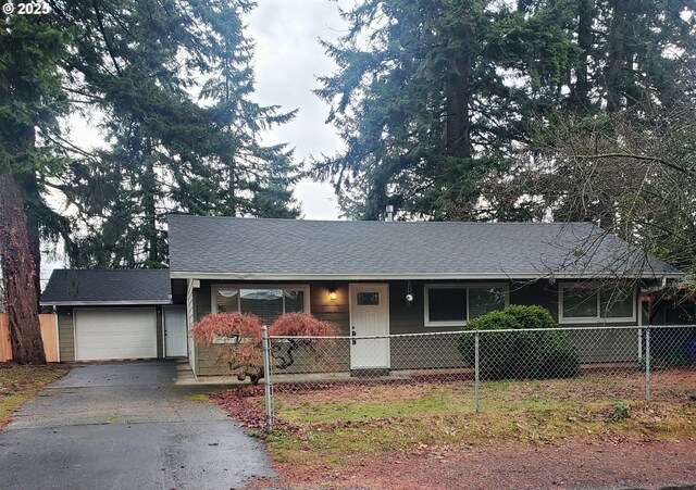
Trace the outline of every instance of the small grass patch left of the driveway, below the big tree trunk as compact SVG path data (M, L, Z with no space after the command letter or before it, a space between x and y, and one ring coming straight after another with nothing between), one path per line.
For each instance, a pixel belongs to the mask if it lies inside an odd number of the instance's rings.
M12 413L41 388L61 378L70 368L62 365L21 366L0 363L0 430Z

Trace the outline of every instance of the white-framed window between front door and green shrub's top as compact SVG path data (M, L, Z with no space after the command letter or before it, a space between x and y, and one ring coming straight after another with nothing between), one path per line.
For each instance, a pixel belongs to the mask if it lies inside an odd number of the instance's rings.
M508 305L507 285L425 285L425 326L457 327Z

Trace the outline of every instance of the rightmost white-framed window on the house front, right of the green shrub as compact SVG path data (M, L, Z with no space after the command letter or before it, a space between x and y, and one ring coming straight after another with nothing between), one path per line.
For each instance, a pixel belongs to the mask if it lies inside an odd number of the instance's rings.
M559 323L633 322L633 288L595 288L561 285L559 288Z

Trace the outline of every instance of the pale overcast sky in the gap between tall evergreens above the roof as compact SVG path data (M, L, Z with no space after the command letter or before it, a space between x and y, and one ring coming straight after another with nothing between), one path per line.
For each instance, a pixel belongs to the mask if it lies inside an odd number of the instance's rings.
M328 106L312 89L319 88L315 76L328 75L335 68L319 38L334 40L345 32L347 26L338 8L351 3L352 0L259 0L247 18L247 35L257 46L254 99L264 105L299 109L291 123L275 128L265 141L289 142L295 147L297 162L341 148L333 127L324 124ZM338 218L330 185L303 181L295 196L302 203L306 219Z

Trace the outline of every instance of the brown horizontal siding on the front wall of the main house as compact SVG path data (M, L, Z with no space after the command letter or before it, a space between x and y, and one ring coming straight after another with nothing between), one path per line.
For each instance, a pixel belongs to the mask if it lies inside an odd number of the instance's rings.
M380 281L374 281L380 282ZM389 282L389 332L391 335L402 334L432 334L458 330L458 327L425 327L424 326L424 286L425 284L453 282L464 285L475 285L489 281L423 281L412 280L411 292L413 301L408 304L406 294L408 292L407 280L396 280ZM501 281L494 281L501 282ZM196 293L196 318L210 313L211 310L211 285L210 280L201 280L200 288ZM297 284L297 282L295 282ZM330 285L336 289L336 300L328 299ZM323 282L310 281L310 307L311 313L320 319L331 322L336 325L340 335L350 335L350 312L348 281ZM537 281L509 281L510 304L539 305L549 310L556 321L558 321L558 282L551 284L547 280ZM635 323L611 324L635 325ZM568 327L592 327L597 324L563 324ZM586 331L570 331L569 336L576 343L581 362L624 362L634 361L638 357L638 340L636 329L600 331L588 329ZM198 345L196 350L195 363L196 373L206 375L226 375L229 373L226 365L219 362L215 350L224 345L211 348ZM350 341L337 340L331 349L333 363L325 363L324 368L311 366L310 363L302 364L301 349L295 351L296 363L284 369L283 373L298 373L307 370L349 370L350 369ZM390 364L393 369L427 369L444 367L462 367L461 355L457 350L456 336L423 336L394 338L390 342Z

